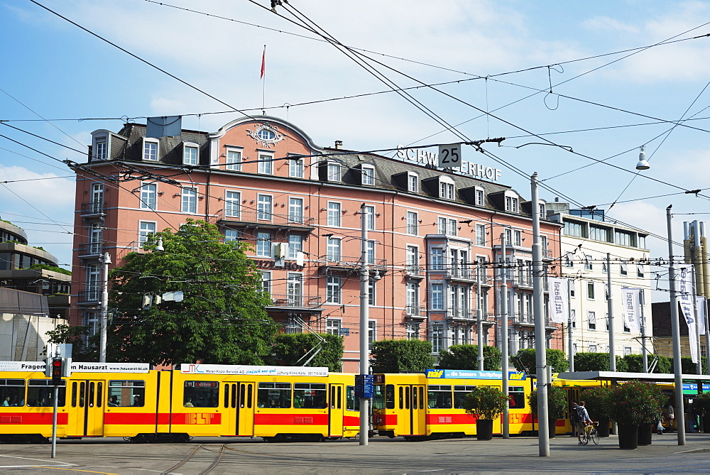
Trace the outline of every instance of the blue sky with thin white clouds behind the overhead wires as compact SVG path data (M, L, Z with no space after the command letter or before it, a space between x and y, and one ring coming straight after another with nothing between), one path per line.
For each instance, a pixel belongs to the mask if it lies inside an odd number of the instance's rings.
M458 140L391 92L297 105L387 87L332 45L282 33L314 36L250 1L168 2L224 18L145 0L39 3L251 114L262 106L259 70L267 45L268 114L292 121L322 146L342 140L345 148L371 150ZM426 89L411 93L466 137L505 136L502 147L486 149L524 175L537 171L555 190L542 190L543 199L571 197L606 209L617 201L610 216L664 236L665 208L673 204L676 240L682 239L684 220L704 219L685 213L707 212L708 199L683 192L709 186L710 123L704 118L710 109L704 108L710 91L704 88L710 80L710 38L689 38L710 32L710 2L576 1L564 2L564 8L558 1L515 0L290 5L342 43L389 55L371 57L416 80L460 80L440 87L458 101ZM293 18L286 9L278 13ZM230 108L31 1L0 0L0 36L5 45L0 134L8 137L0 137L0 182L7 181L0 184L0 217L26 229L31 244L62 263L71 260L74 185L70 170L53 158L85 161L80 151L90 133L118 131L121 118L144 122L145 116L202 114L185 116L183 127L216 131L241 116L207 114ZM655 45L670 38L679 41ZM584 59L650 45L655 46ZM417 84L381 70L400 87ZM501 75L505 72L515 73ZM689 117L694 120L683 124L695 129L665 122ZM107 120L80 120L94 118ZM544 139L597 160L613 156L608 163L618 168L555 146L518 148ZM651 169L628 185L644 144ZM464 158L502 168L501 182L530 196L528 180L504 165L471 148L464 149ZM553 178L584 165L591 166ZM681 194L650 198L671 193ZM649 239L648 245L651 257L667 256L664 241Z

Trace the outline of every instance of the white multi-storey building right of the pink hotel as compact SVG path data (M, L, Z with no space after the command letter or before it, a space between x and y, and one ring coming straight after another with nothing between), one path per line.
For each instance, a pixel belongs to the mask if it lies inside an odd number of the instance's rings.
M642 334L652 336L650 270L647 232L607 221L603 210L569 209L568 203L547 204L547 217L564 224L560 262L550 275L570 279L572 351L609 351L609 332L613 331L617 356L640 354ZM611 262L613 319L608 318L607 264ZM639 289L642 331L631 330L623 321L623 288ZM565 353L569 352L568 326L564 325ZM610 328L611 327L611 328ZM645 339L652 351L651 339Z

